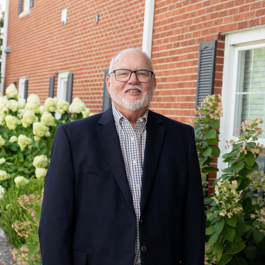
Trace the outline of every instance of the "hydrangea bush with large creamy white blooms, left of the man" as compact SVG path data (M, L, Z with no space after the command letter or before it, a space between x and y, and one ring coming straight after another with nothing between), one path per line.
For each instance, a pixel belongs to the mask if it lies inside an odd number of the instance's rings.
M8 86L6 95L0 95L0 197L11 185L27 184L32 177L44 179L56 128L90 115L80 98L70 106L57 98L40 105L35 94L18 101L15 85Z

